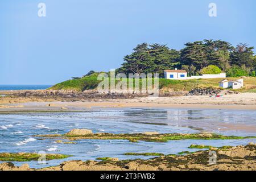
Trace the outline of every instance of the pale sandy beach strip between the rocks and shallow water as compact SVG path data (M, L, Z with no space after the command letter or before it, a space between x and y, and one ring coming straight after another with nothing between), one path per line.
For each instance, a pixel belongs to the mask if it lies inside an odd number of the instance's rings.
M176 109L256 110L256 93L230 94L223 97L174 96L135 98L67 98L1 97L0 112L15 111L83 111L115 107L168 107Z

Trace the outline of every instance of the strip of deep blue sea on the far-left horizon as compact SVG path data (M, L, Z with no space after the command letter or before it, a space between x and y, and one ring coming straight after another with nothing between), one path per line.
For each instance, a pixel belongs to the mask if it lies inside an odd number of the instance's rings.
M0 90L43 90L52 85L0 85Z

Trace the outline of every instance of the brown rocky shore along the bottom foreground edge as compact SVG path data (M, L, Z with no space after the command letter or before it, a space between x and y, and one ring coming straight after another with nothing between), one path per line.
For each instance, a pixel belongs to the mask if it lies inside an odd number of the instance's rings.
M210 156L216 158L216 163ZM210 148L193 154L164 155L148 160L102 159L73 160L42 169L30 168L28 164L16 167L8 162L0 164L0 171L255 171L256 145L249 143L246 146Z

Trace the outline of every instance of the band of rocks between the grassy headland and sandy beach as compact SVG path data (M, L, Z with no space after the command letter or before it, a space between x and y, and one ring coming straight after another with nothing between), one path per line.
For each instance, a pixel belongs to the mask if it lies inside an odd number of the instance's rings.
M220 89L193 89L190 92L165 92L160 90L159 97L176 97L176 96L210 96L220 93ZM237 94L228 90L225 94ZM6 90L0 91L0 94L5 94L7 97L25 97L25 98L40 98L65 101L79 100L94 100L94 99L129 99L136 97L147 97L148 94L143 93L100 93L97 90L85 90L78 92L76 90Z

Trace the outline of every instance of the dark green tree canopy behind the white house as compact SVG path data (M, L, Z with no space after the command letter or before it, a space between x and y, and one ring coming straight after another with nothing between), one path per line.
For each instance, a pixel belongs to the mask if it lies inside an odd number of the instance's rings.
M214 65L221 71L229 71L237 65L246 72L256 71L254 47L238 44L233 47L223 40L203 40L189 42L180 51L170 49L166 44L142 43L130 55L123 57L124 63L119 73L159 73L164 69L185 69L189 75L199 75L203 68Z

